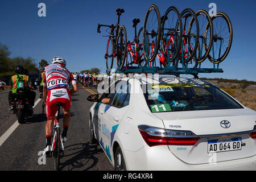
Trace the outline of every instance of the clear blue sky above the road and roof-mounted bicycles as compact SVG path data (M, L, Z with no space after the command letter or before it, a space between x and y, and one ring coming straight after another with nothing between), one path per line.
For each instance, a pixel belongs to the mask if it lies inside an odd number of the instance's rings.
M46 3L46 17L38 16L38 4ZM237 78L256 81L256 1L213 0L1 0L0 43L6 44L11 57L32 57L52 60L61 56L67 60L71 72L97 67L105 70L106 37L97 34L97 24L115 24L119 7L125 9L121 24L126 26L129 40L133 39L132 20L141 19L143 26L148 6L157 5L163 15L168 6L180 11L191 7L194 11L209 11L209 3L217 5L217 11L228 14L233 25L233 43L228 57L220 64L224 73L201 74L201 77ZM208 60L203 67L212 67Z

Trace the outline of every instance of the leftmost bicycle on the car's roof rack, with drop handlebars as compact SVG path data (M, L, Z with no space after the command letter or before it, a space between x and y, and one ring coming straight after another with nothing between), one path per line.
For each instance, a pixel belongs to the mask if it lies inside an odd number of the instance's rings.
M125 26L119 26L120 16L122 13L125 13L123 9L116 10L118 15L117 24L98 24L97 32L101 33L101 27L109 27L110 28L110 35L108 35L108 43L106 46L106 54L104 58L106 59L106 69L108 73L110 73L111 69L113 68L113 60L114 57L116 58L116 68L122 69L123 64L125 63L126 58L126 49L127 49L127 35Z

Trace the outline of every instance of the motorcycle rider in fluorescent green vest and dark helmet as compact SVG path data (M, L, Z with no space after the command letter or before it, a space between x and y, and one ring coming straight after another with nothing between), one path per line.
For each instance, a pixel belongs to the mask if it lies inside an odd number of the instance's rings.
M30 89L32 89L31 80L28 75L24 75L24 68L20 65L15 67L15 73L16 75L11 77L9 86L11 91L9 92L8 100L10 105L10 110L14 110L14 100L17 96L17 89L24 88L25 90L25 96L30 101L31 106L34 106L35 101L35 92L32 92ZM23 80L24 85L20 84L19 80ZM34 99L34 100L33 100Z

